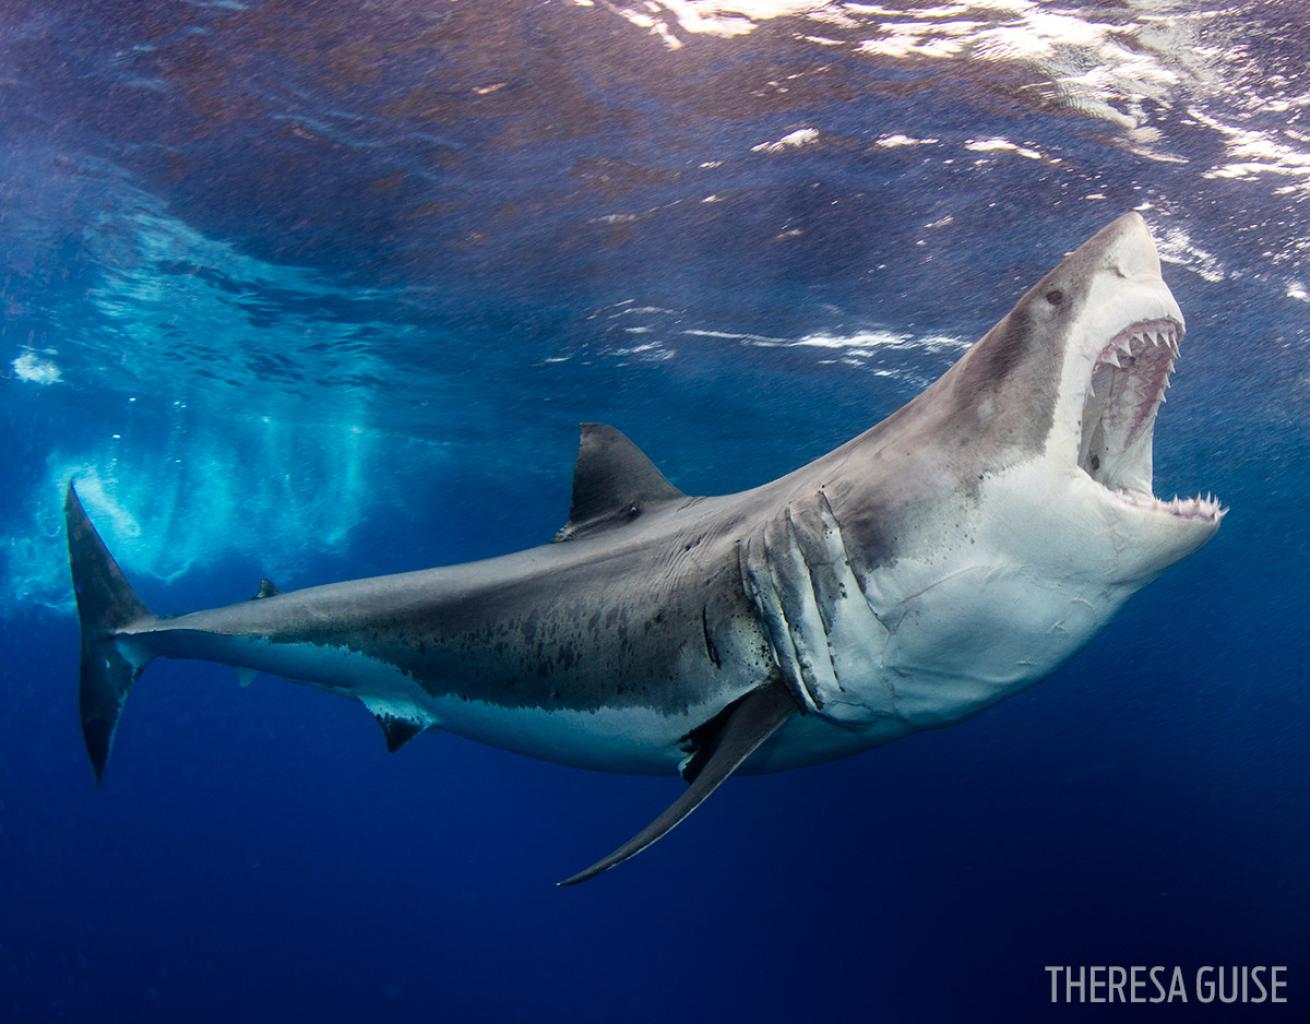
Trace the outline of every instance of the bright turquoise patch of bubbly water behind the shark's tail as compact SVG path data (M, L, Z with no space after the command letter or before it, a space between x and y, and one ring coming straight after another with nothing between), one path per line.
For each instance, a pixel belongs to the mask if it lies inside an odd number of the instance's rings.
M93 452L54 454L10 539L13 604L72 606L62 502L69 481L128 576L173 581L231 558L295 579L297 563L339 550L385 498L375 436L356 424L300 430L269 416L191 418L134 428Z

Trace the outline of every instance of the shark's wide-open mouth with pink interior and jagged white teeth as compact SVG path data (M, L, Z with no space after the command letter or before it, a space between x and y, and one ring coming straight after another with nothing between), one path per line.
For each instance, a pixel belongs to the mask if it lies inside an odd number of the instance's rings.
M1155 412L1182 338L1176 321L1148 320L1124 327L1102 348L1083 402L1078 465L1131 504L1217 522L1227 509L1210 495L1162 502L1151 491Z

